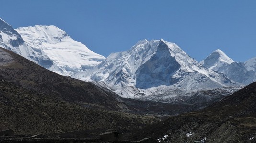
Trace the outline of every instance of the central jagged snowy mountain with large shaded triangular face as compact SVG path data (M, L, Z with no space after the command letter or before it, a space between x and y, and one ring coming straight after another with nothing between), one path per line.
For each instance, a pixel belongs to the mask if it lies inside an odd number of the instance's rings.
M240 85L205 68L175 43L163 39L139 41L130 50L112 53L99 65L74 77L107 86L123 97L165 101L186 91Z

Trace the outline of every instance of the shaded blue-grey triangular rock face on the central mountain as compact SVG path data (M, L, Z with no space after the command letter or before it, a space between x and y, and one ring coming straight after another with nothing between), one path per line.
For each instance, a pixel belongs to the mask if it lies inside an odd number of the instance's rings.
M160 85L173 85L178 82L172 76L181 65L169 52L169 47L160 41L155 54L143 63L136 72L137 88L151 88Z

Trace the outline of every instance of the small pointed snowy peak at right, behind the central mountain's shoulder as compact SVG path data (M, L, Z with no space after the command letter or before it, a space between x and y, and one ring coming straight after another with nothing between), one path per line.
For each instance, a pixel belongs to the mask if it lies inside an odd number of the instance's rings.
M200 61L200 64L212 70L218 71L218 68L222 67L224 64L231 64L233 62L234 61L229 58L223 51L217 49L212 52L206 59Z

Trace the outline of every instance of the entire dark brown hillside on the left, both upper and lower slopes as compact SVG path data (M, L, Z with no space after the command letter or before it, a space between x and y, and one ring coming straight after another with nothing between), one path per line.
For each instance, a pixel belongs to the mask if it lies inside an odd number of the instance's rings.
M157 119L125 112L113 92L50 72L0 48L0 131L47 134L139 128ZM88 132L87 132L88 131ZM83 134L84 135L84 134Z

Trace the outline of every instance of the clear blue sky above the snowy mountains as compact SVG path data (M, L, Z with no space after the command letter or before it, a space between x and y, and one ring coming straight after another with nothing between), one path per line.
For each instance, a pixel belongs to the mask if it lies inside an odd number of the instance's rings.
M178 44L197 61L221 49L234 61L256 57L256 0L1 0L13 28L55 25L108 56L141 39Z

